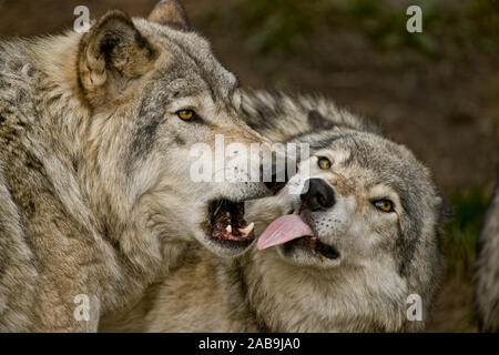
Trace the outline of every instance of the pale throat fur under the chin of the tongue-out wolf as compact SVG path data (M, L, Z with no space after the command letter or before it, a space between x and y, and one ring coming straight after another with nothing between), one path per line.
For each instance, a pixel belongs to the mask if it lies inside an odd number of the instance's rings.
M285 263L274 251L251 251L237 264L245 304L267 332L397 332L405 326L405 298L369 291L376 272L307 270ZM373 298L366 300L366 292Z

